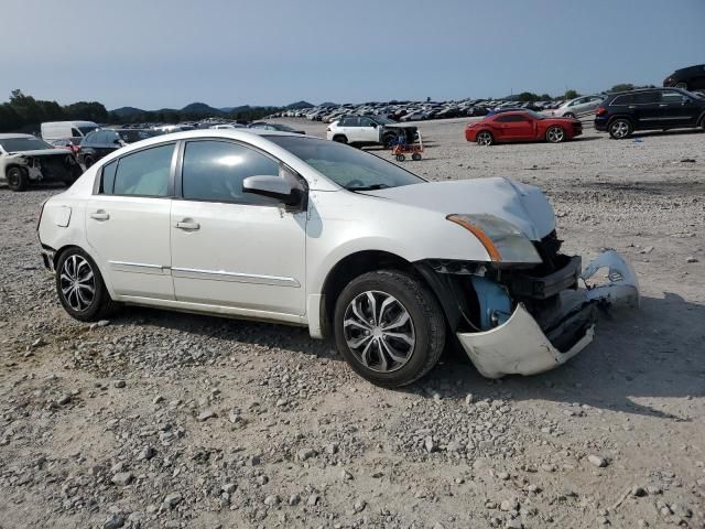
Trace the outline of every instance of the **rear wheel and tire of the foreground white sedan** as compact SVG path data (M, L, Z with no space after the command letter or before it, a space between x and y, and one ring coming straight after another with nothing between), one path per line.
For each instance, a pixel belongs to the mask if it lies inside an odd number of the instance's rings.
M100 270L80 248L69 248L59 256L56 293L64 310L82 322L100 320L115 309Z

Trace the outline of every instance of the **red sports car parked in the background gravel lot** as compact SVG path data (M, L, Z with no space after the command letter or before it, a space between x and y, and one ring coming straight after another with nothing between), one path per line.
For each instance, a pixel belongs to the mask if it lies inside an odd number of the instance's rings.
M509 141L549 141L561 143L583 133L583 123L574 118L553 118L533 110L512 110L489 115L468 123L465 139L478 145Z

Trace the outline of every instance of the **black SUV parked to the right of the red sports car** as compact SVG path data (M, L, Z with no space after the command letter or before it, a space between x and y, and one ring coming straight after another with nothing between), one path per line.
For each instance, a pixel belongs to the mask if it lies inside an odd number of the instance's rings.
M595 128L616 140L634 130L705 129L705 98L677 88L646 88L610 94L597 107Z

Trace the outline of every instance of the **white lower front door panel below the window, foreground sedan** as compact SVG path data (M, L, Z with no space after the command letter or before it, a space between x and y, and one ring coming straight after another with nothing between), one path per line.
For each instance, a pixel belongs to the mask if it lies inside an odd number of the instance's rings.
M305 212L174 201L171 245L177 301L304 314Z

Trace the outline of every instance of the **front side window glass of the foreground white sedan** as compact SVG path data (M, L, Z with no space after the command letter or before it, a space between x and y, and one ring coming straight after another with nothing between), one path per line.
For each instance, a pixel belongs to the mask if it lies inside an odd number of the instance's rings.
M245 193L248 176L279 176L280 163L254 149L228 141L189 141L184 151L182 192L191 201L276 205L275 198Z

